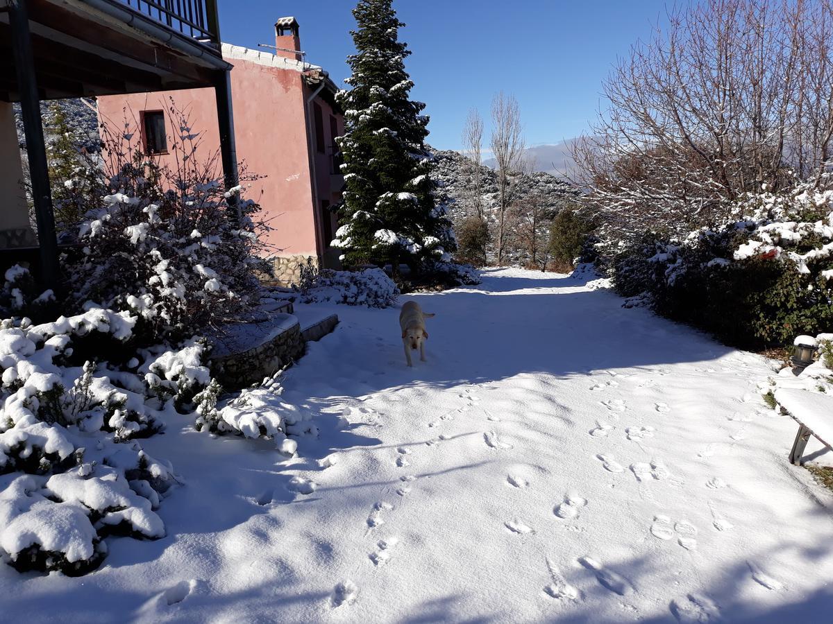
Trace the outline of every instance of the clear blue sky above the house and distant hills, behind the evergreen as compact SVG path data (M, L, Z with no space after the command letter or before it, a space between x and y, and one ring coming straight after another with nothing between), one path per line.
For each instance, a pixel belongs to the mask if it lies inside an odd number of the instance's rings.
M222 39L274 45L278 17L295 16L307 60L343 87L350 75L352 0L220 0ZM526 142L578 136L595 116L601 81L631 43L665 21L668 0L398 0L415 99L431 115L431 145L458 149L466 113L486 119L503 89L521 106ZM488 131L488 130L487 130Z

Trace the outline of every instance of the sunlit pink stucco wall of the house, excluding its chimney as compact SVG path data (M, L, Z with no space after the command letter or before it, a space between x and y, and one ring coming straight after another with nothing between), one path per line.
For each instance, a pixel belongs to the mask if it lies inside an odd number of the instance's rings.
M313 206L310 142L307 140L305 108L312 92L303 81L302 73L297 71L300 64L294 60L226 45L223 56L234 65L232 106L237 157L247 171L265 176L247 182L245 196L259 201L261 217L272 227L264 240L270 246L269 255L277 256L274 264L280 274L278 279L286 283L297 279L297 266L308 257L318 260L323 255L322 235L316 227L318 210ZM171 99L173 106L187 112L192 132L201 133L201 156L210 156L220 141L212 89L100 97L98 110L102 121L121 128L124 109L127 109L128 118L136 121L140 119L140 111L162 110L169 116ZM320 103L329 113L331 109L326 102ZM326 121L327 131L328 124ZM170 128L168 133L170 148ZM328 146L331 143L327 140ZM312 148L315 149L314 137ZM173 162L172 154L159 158L163 163ZM331 168L323 166L327 158L316 157L316 188L324 196L332 197ZM322 166L318 166L319 161ZM217 166L219 168L219 161ZM220 175L217 171L217 176ZM341 183L336 183L340 189Z

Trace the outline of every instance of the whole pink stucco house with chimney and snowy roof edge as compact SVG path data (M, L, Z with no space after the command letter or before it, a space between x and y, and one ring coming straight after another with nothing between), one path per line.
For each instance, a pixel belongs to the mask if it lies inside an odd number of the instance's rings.
M329 246L337 221L328 207L340 200L344 185L335 142L344 117L327 72L305 61L294 17L275 24L275 48L272 54L223 43L222 57L234 66L237 158L265 176L252 183L247 196L260 198L273 228L266 242L273 249L275 275L290 283L308 258L325 267L338 263L337 251ZM220 144L210 88L99 97L98 114L102 123L118 127L127 110L140 126L145 151L164 163L173 157L167 151L169 98L177 110L187 111L210 156Z

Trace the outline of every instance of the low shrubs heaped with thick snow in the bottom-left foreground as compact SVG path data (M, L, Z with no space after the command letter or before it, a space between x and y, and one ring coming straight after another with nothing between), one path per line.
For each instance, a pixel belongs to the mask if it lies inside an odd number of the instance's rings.
M126 345L136 323L92 306L52 323L0 323L0 557L19 570L81 574L102 562L113 532L165 534L153 510L171 467L130 440L156 433L166 406L137 374L75 362L76 340Z

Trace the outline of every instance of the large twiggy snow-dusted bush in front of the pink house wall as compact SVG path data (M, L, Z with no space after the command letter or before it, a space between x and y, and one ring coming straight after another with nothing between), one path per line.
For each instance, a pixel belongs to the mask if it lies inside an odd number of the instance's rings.
M260 206L225 189L217 155L201 161L199 133L170 109L176 167L135 145L138 133L105 126L101 183L85 198L78 257L67 256L70 305L129 310L144 344L177 341L257 304ZM250 176L251 177L251 176Z

